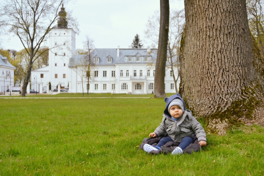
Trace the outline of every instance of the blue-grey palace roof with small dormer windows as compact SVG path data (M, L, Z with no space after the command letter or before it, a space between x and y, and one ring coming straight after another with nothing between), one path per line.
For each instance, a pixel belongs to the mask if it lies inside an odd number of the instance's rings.
M95 65L115 65L115 64L145 64L148 62L127 62L127 56L149 56L149 60L157 58L157 49L150 49L150 52L147 49L119 49L119 57L117 57L117 49L116 48L97 48L92 51L92 57L99 57L99 62L95 63ZM70 59L69 67L72 67L73 60L77 62L80 58L85 57L85 55L75 55ZM107 57L112 57L112 62L107 62Z

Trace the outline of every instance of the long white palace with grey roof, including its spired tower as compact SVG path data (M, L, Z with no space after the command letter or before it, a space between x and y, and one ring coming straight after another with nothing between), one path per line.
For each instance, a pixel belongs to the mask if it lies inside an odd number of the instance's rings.
M62 6L58 26L49 33L49 65L31 72L31 89L42 93L51 90L69 88L70 93L82 92L81 77L73 69L72 61L85 55L76 55L75 34L67 28L66 12ZM87 85L83 80L84 92L89 93L153 93L156 49L137 48L101 48L92 51L93 77ZM154 62L154 64L153 64ZM175 69L175 76L178 75ZM177 82L179 87L180 79ZM47 91L48 92L48 91ZM166 70L165 92L175 93L175 85L170 69Z

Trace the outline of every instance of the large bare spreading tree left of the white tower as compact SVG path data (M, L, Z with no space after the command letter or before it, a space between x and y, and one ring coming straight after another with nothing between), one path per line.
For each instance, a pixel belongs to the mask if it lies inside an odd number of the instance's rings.
M63 3L68 1L70 0L6 0L1 4L0 21L3 21L10 33L18 36L29 57L21 92L23 97L30 80L32 65L40 57L38 50L47 40L50 30L57 26L55 22L59 15L62 19L62 22L59 21L60 24L65 26L66 12ZM61 6L61 13L59 13Z

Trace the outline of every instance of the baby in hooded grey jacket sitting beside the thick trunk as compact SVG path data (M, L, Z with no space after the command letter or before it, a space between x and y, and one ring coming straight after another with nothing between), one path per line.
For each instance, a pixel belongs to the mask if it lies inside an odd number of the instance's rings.
M169 137L162 138L159 143L154 145L145 144L143 149L150 153L151 150L159 150L162 145L167 142L180 143L177 148L172 151L172 155L182 154L183 150L193 143L194 133L198 138L200 146L206 145L206 135L202 125L192 116L192 112L186 111L185 102L180 97L180 94L172 95L165 98L166 102L163 119L160 126L155 129L149 137L159 137L165 132Z

